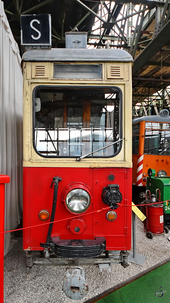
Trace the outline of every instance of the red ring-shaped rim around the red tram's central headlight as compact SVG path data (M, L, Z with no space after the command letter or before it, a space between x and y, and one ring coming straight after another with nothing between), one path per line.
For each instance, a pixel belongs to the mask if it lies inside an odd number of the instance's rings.
M71 211L69 208L67 208L67 205L66 205L66 197L68 195L68 193L71 191L71 190L74 190L74 189L82 189L84 191L87 191L88 195L90 196L90 204L88 206L88 208L81 212L81 213L78 213L78 212L74 212L74 211ZM81 183L81 182L74 182L74 183L71 183L69 185L67 185L67 187L64 189L63 193L62 193L62 201L64 202L64 206L65 208L67 209L67 211L69 211L71 214L74 214L74 215L81 215L81 214L85 214L89 208L91 207L92 203L93 203L93 196L92 196L92 191L91 189L84 183Z

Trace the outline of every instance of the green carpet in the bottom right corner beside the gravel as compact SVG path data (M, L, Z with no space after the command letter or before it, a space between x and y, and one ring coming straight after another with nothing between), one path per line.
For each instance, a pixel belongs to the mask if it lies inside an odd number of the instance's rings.
M163 285L163 286L162 286ZM162 287L161 287L162 286ZM161 298L155 292L166 291ZM161 296L161 294L159 295ZM170 303L170 262L98 300L99 303Z

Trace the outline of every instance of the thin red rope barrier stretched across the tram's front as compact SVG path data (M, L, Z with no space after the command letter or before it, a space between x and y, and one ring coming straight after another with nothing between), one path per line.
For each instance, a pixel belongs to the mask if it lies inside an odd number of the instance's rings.
M121 206L121 207L122 206L131 206L132 207L132 206L148 206L148 205L153 205L153 204L155 205L155 204L164 203L166 201L156 202L156 203L150 203L150 204L139 204L139 205L126 205L126 204L120 204L120 203L116 203L116 204L118 206ZM103 211L103 210L106 210L106 209L110 209L110 207L105 207L105 208L102 208L102 209L99 209L99 210L91 211L91 212L88 212L86 214L83 214L83 216L93 214L94 212L100 212L100 211ZM80 216L80 214L77 215L77 216L71 217L71 218L77 218L79 216ZM42 223L42 224L38 224L38 225L33 225L33 226L28 226L28 227L23 227L23 228L8 230L8 231L3 231L3 232L0 232L0 234L5 234L6 232L18 231L18 230L23 230L23 229L27 229L27 228L38 227L38 226L47 225L47 224L50 224L50 223L56 223L56 222L60 222L60 221L64 221L64 220L69 220L69 219L70 219L70 217L69 218L65 218L65 219L61 219L61 220L57 220L57 221L53 221L53 222L46 222L46 223Z

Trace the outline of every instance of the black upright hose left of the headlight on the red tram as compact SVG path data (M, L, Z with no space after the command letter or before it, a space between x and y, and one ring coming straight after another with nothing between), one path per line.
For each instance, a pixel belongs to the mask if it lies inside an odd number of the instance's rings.
M56 210L56 205L57 205L58 182L61 181L61 180L62 179L60 177L54 177L53 181L52 181L52 184L51 184L51 187L52 187L53 182L54 182L54 195L53 195L53 205L52 205L50 222L54 221L55 210ZM52 228L53 228L53 223L50 223L49 228L48 228L46 243L50 243Z

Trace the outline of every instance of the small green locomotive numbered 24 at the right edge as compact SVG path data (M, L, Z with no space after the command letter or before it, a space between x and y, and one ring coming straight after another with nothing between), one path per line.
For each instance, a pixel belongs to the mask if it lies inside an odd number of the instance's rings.
M166 173L165 173L166 174ZM164 171L160 177L155 177L155 169L148 169L148 177L146 178L146 190L149 189L152 195L155 195L159 201L159 189L160 189L160 200L165 201L163 203L164 213L164 226L170 229L170 177L166 177ZM153 197L154 199L154 197Z

